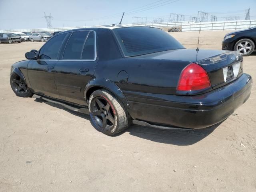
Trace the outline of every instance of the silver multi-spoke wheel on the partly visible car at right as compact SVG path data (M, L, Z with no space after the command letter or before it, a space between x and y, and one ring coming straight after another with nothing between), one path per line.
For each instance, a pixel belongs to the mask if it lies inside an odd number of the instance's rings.
M234 50L238 51L242 56L249 56L254 51L254 42L250 39L241 39L236 42Z

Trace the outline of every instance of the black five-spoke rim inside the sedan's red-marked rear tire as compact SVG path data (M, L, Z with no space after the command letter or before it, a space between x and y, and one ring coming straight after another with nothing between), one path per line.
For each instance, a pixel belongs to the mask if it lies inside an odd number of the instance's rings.
M102 129L111 130L115 124L115 116L110 103L103 97L92 100L92 115Z

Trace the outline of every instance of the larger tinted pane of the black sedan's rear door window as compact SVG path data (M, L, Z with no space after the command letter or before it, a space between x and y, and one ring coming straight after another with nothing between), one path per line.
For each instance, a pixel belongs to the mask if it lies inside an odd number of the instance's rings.
M73 32L66 45L63 59L80 59L88 31Z

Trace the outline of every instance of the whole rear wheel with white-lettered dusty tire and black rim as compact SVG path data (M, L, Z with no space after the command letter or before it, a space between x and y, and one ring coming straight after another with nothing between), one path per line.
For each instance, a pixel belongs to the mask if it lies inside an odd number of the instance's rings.
M96 130L113 136L128 128L130 118L122 102L105 89L94 91L89 99L92 125Z

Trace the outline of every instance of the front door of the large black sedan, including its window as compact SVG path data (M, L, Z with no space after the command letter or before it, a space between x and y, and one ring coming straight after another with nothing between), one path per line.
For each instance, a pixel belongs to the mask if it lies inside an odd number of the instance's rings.
M39 50L36 60L28 63L28 79L34 92L59 98L54 82L54 66L67 33L54 36Z

